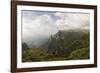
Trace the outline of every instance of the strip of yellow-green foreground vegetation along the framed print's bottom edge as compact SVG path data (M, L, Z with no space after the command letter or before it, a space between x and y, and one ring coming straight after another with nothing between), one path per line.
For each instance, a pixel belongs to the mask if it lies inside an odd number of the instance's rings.
M69 54L63 54L63 56L49 54L43 49L33 48L24 50L22 53L23 62L35 62L35 61L56 61L56 60L76 60L76 59L88 59L89 49L81 48L74 50Z

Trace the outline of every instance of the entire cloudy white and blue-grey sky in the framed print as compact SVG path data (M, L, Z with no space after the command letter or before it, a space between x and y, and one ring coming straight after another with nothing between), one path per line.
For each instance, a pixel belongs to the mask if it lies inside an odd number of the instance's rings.
M36 45L59 30L89 29L89 17L86 13L22 10L23 42Z

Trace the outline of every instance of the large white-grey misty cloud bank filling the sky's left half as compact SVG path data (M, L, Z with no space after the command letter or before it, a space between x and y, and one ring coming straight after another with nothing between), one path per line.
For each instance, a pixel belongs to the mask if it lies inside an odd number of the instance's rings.
M44 38L50 37L57 31L56 21L49 14L23 12L22 38L28 45L34 43L35 46L39 46Z

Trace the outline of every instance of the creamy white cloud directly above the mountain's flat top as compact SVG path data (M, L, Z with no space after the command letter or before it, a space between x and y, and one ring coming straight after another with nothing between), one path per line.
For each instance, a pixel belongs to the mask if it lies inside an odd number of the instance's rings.
M60 17L60 19L56 22L56 24L59 26L59 29L83 29L84 27L89 27L89 14L57 12L55 15Z

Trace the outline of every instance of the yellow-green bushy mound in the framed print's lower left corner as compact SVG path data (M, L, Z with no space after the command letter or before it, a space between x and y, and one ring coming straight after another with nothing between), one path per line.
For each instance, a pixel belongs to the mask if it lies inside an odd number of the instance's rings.
M22 53L22 61L42 61L42 59L47 55L43 49L32 48L24 50Z

